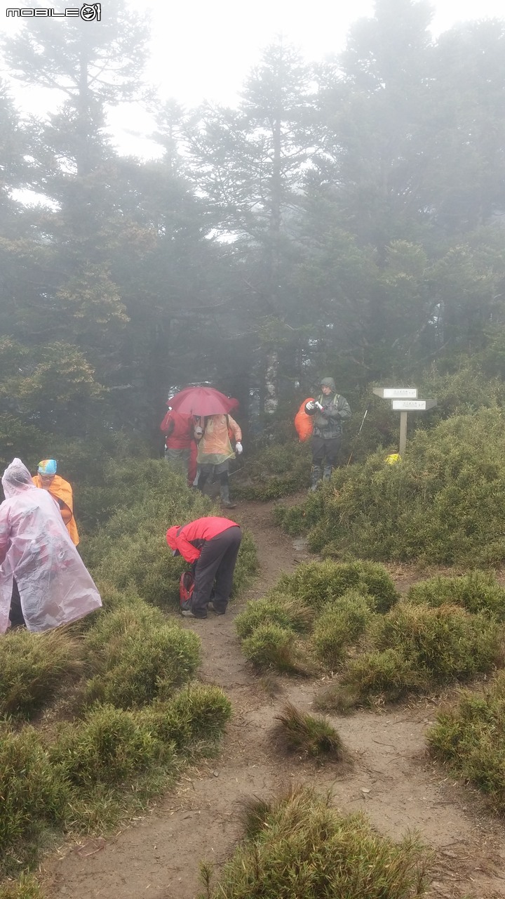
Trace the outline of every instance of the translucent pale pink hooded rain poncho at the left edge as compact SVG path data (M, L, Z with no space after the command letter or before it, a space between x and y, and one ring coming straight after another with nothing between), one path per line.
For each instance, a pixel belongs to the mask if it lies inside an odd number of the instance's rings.
M39 490L21 459L2 478L0 633L9 621L13 577L29 630L58 628L102 606L100 593L68 536L58 504Z

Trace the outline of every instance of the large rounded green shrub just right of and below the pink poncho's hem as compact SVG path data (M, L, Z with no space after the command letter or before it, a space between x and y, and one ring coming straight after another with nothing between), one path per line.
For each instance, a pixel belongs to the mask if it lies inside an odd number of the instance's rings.
M104 615L86 635L96 672L85 698L133 708L168 699L201 661L199 636L167 624L159 610L139 602Z

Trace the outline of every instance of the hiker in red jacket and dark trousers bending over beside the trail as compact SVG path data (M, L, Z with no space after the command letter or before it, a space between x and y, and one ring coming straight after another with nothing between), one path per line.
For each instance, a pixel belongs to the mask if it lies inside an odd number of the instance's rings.
M215 516L175 524L167 530L166 542L173 556L182 556L194 570L191 608L182 611L182 615L204 619L208 609L217 615L225 614L241 540L242 531L235 521Z

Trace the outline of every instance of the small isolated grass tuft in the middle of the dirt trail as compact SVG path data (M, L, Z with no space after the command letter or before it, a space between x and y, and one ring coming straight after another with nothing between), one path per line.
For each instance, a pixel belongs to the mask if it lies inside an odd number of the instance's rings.
M288 752L336 761L343 758L341 736L326 718L301 712L290 702L275 717L279 725L274 728L274 737Z

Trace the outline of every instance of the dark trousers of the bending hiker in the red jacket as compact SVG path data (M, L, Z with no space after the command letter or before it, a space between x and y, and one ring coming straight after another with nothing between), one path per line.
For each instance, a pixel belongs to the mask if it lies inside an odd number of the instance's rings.
M195 565L195 589L191 601L193 615L201 618L207 615L207 603L210 601L212 587L214 587L212 597L214 608L220 612L226 611L241 540L242 531L238 525L234 525L232 528L222 530L204 545Z

